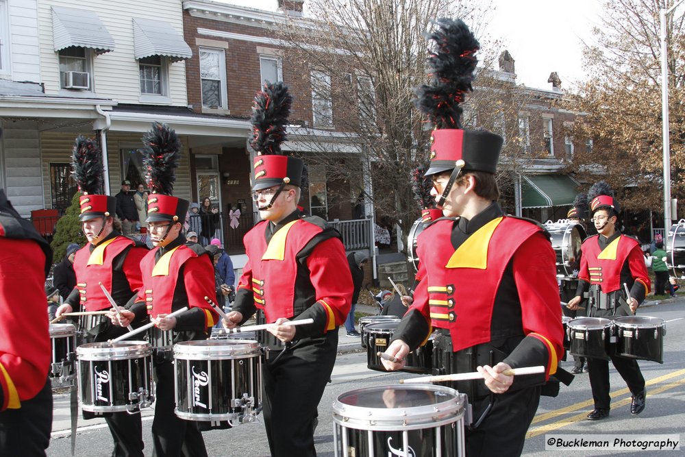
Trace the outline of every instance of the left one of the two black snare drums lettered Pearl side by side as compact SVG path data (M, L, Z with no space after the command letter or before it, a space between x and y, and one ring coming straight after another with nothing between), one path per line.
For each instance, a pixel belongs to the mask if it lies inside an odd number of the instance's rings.
M135 412L151 406L152 347L145 341L87 343L76 348L81 408Z

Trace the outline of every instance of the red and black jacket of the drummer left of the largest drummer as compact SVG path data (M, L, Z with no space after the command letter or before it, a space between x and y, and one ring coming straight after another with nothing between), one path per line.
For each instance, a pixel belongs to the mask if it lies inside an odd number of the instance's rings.
M248 260L232 308L243 321L257 309L267 323L314 319L295 328L295 339L325 334L345 321L352 277L340 234L326 221L296 210L277 225L258 223L243 241Z

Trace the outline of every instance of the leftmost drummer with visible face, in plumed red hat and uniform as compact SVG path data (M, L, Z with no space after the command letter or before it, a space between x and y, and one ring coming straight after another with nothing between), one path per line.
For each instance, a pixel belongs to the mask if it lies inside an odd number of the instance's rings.
M111 310L112 304L102 286L117 306L125 306L142 286L140 261L147 254L145 245L117 230L118 222L114 219L116 199L99 194L104 169L97 142L78 136L72 162L73 176L84 194L79 197L79 221L88 243L76 251L73 264L76 287L55 312L56 317L65 312ZM112 325L110 319L103 315L80 316L78 321L87 343L108 341L126 333L125 329ZM84 419L102 416L114 439L113 456L143 455L145 445L140 415L129 415L125 411L83 412Z

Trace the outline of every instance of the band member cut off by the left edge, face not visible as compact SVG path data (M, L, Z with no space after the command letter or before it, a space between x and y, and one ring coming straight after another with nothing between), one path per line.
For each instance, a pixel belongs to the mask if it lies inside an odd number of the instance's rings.
M50 246L0 189L0 456L45 456L50 443L51 263Z

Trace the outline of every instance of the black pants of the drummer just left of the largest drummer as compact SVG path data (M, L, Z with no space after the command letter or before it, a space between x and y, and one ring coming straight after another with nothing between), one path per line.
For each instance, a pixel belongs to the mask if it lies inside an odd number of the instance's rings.
M298 341L263 365L264 426L272 457L314 457L314 418L336 362L338 329ZM278 357L276 359L276 357Z

